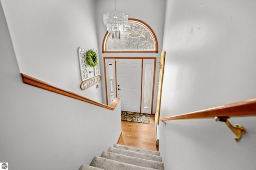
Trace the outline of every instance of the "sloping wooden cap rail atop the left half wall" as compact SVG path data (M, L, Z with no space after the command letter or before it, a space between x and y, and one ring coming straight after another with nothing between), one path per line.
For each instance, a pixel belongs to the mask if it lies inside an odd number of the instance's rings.
M121 98L115 98L114 101L110 104L110 106L108 106L108 105L90 100L88 98L85 98L83 96L80 96L76 93L58 88L56 86L53 86L51 84L48 84L48 83L38 80L36 78L30 77L26 74L21 74L21 76L22 76L23 83L25 83L25 84L29 84L31 86L36 86L36 87L42 88L44 90L55 92L55 93L58 93L58 94L61 94L64 96L68 96L70 98L74 98L74 99L81 100L81 101L84 101L84 102L87 102L90 104L94 104L96 106L104 107L106 109L114 110L116 108L116 106L118 105L118 103L121 101Z

